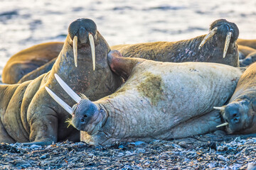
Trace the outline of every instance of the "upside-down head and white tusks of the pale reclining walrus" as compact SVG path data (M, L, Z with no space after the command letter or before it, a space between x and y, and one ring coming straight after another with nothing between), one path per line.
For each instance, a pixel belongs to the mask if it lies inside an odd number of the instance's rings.
M102 108L95 105L95 103L92 103L92 101L90 101L85 95L81 94L81 97L78 96L78 94L70 89L68 84L65 84L65 82L60 79L58 74L55 74L55 78L67 94L77 102L73 108L70 108L67 103L61 100L46 86L48 94L50 94L50 96L60 106L62 106L65 111L68 111L68 113L72 115L72 119L67 122L70 123L70 125L73 125L76 129L87 132L89 135L93 135L98 132L107 120L107 113Z

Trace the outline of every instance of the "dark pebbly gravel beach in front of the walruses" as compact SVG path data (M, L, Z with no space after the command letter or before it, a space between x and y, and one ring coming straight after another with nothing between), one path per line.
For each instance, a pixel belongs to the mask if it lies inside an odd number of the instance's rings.
M95 147L0 145L0 169L256 169L256 137L215 134Z

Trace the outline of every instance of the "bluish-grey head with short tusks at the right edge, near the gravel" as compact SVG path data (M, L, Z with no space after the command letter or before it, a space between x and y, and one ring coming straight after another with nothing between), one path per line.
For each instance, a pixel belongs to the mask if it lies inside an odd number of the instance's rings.
M233 101L226 106L214 107L220 110L225 123L217 128L225 126L229 134L249 134L256 132L256 117L253 103L247 98L240 101Z

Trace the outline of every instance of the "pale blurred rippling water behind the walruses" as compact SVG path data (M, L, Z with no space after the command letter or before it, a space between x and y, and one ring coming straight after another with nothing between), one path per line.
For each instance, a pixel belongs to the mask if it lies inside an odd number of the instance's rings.
M0 0L0 74L16 52L64 41L77 18L95 21L110 46L193 38L219 18L236 23L239 38L256 39L253 0Z

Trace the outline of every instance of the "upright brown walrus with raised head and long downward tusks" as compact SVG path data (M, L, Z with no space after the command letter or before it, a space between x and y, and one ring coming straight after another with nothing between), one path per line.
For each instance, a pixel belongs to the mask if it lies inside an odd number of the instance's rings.
M67 128L65 123L70 114L53 101L44 87L57 91L67 103L73 104L54 79L54 74L59 74L72 89L85 93L91 100L112 94L123 80L110 70L108 52L110 47L94 21L73 21L50 72L22 84L0 86L0 142L50 145L61 140L78 141L80 132Z

